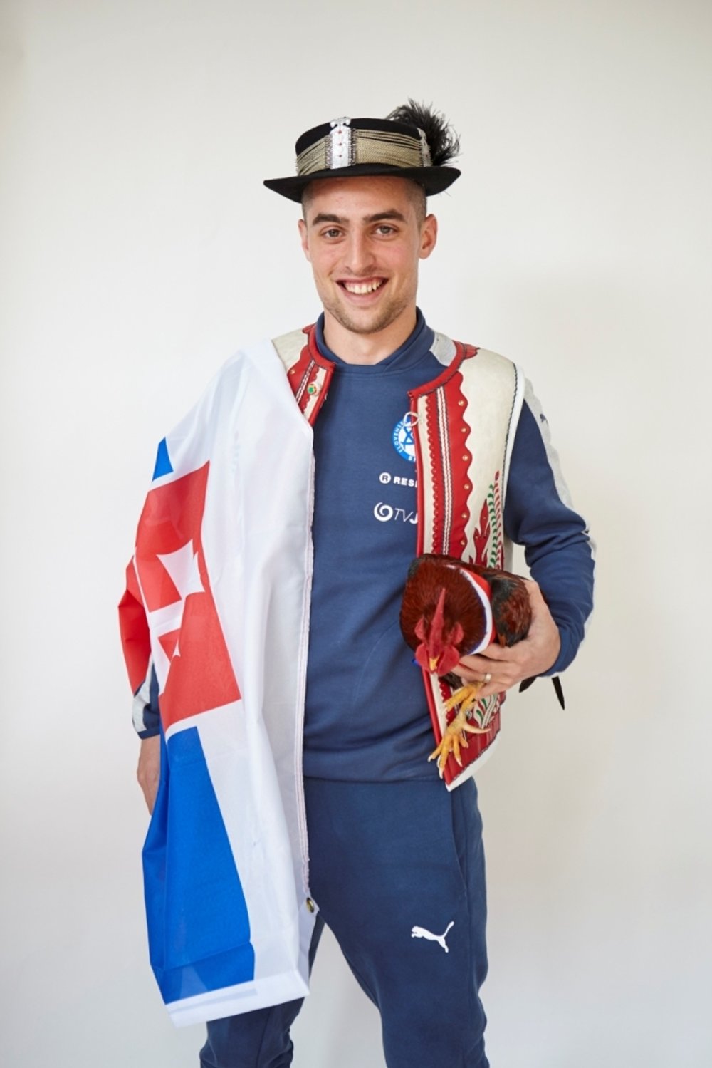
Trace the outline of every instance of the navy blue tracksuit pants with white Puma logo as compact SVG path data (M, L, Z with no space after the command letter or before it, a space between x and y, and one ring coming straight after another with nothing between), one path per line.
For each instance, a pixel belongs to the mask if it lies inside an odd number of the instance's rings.
M310 882L378 1007L389 1068L488 1068L485 858L473 781L304 783ZM313 957L312 957L313 959ZM208 1023L203 1068L287 1068L302 1002Z

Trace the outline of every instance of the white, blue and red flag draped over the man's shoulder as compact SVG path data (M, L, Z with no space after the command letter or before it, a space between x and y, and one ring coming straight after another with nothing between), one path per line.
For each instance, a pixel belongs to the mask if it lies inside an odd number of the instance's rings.
M307 993L312 462L272 345L238 354L161 441L127 568L129 678L136 693L153 665L159 685L144 888L176 1024Z

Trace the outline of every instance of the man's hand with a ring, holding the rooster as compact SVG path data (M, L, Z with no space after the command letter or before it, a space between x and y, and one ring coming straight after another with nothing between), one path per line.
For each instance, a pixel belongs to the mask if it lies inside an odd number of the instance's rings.
M468 682L479 682L488 673L492 676L479 691L481 697L502 693L524 678L548 671L558 656L558 627L541 591L533 580L527 580L526 588L532 604L532 626L526 638L509 648L493 642L475 657L462 657L455 669Z

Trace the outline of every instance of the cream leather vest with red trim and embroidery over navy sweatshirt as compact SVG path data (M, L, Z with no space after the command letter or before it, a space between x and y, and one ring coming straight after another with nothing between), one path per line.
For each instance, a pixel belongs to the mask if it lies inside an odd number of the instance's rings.
M272 344L287 372L295 398L314 423L326 397L333 364L316 345L314 327L295 330ZM436 334L433 355L442 374L410 394L417 466L416 553L445 553L490 567L507 567L504 499L515 431L524 396L516 364L496 352ZM453 712L452 690L423 673L436 741ZM501 697L487 697L471 713L487 734L469 736L462 767L450 756L448 789L469 779L491 752L500 732Z

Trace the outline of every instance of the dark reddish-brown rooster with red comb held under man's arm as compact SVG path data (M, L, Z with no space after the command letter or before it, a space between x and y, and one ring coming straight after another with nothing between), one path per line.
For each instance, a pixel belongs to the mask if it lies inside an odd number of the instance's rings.
M485 681L464 682L455 669L463 656L496 641L515 645L526 638L532 607L524 579L454 556L426 554L413 561L400 608L400 630L424 671L443 678L455 691L445 708L458 708L429 759L443 769L452 752L458 764L468 734L486 734L468 720Z

